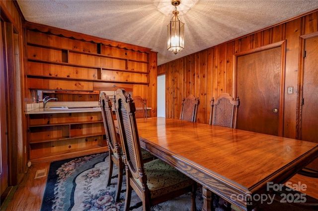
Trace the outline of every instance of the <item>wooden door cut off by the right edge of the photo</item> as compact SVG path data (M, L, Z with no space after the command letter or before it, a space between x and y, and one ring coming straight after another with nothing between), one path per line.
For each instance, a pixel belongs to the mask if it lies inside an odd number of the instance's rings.
M318 37L305 40L301 139L318 143ZM308 167L318 170L318 159Z

